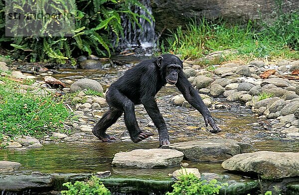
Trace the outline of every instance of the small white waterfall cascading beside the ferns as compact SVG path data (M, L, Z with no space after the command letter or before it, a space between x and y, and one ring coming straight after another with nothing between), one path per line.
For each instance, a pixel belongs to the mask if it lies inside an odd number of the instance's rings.
M140 0L140 2L144 4L149 13L152 14L150 0ZM151 22L149 23L147 20L140 17L139 23L142 26L142 28L140 28L135 22L132 22L127 17L122 16L124 38L120 38L119 49L121 51L132 50L137 55L151 55L156 47L154 21L149 14L139 6L135 6L132 11L139 15L145 15Z

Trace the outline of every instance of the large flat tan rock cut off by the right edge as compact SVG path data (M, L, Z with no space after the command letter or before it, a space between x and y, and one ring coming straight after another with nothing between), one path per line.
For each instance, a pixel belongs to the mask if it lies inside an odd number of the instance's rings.
M299 152L259 151L238 154L224 161L229 171L256 173L262 179L275 180L299 176Z

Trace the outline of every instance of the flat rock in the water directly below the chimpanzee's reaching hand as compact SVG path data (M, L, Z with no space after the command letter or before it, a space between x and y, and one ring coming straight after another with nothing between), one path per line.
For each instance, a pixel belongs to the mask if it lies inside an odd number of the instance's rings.
M222 162L236 154L253 151L251 144L223 138L172 143L162 148L181 151L188 160L209 162Z

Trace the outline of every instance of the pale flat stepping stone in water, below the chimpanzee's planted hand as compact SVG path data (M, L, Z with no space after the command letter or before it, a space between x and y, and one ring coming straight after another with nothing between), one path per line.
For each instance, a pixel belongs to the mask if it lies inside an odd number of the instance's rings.
M116 167L156 168L179 165L184 154L172 149L137 149L116 153L112 165Z

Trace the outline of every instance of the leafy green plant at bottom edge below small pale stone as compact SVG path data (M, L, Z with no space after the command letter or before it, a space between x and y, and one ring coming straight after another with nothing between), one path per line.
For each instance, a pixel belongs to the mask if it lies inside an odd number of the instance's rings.
M201 181L194 174L183 174L166 195L218 195L221 189L216 180Z

